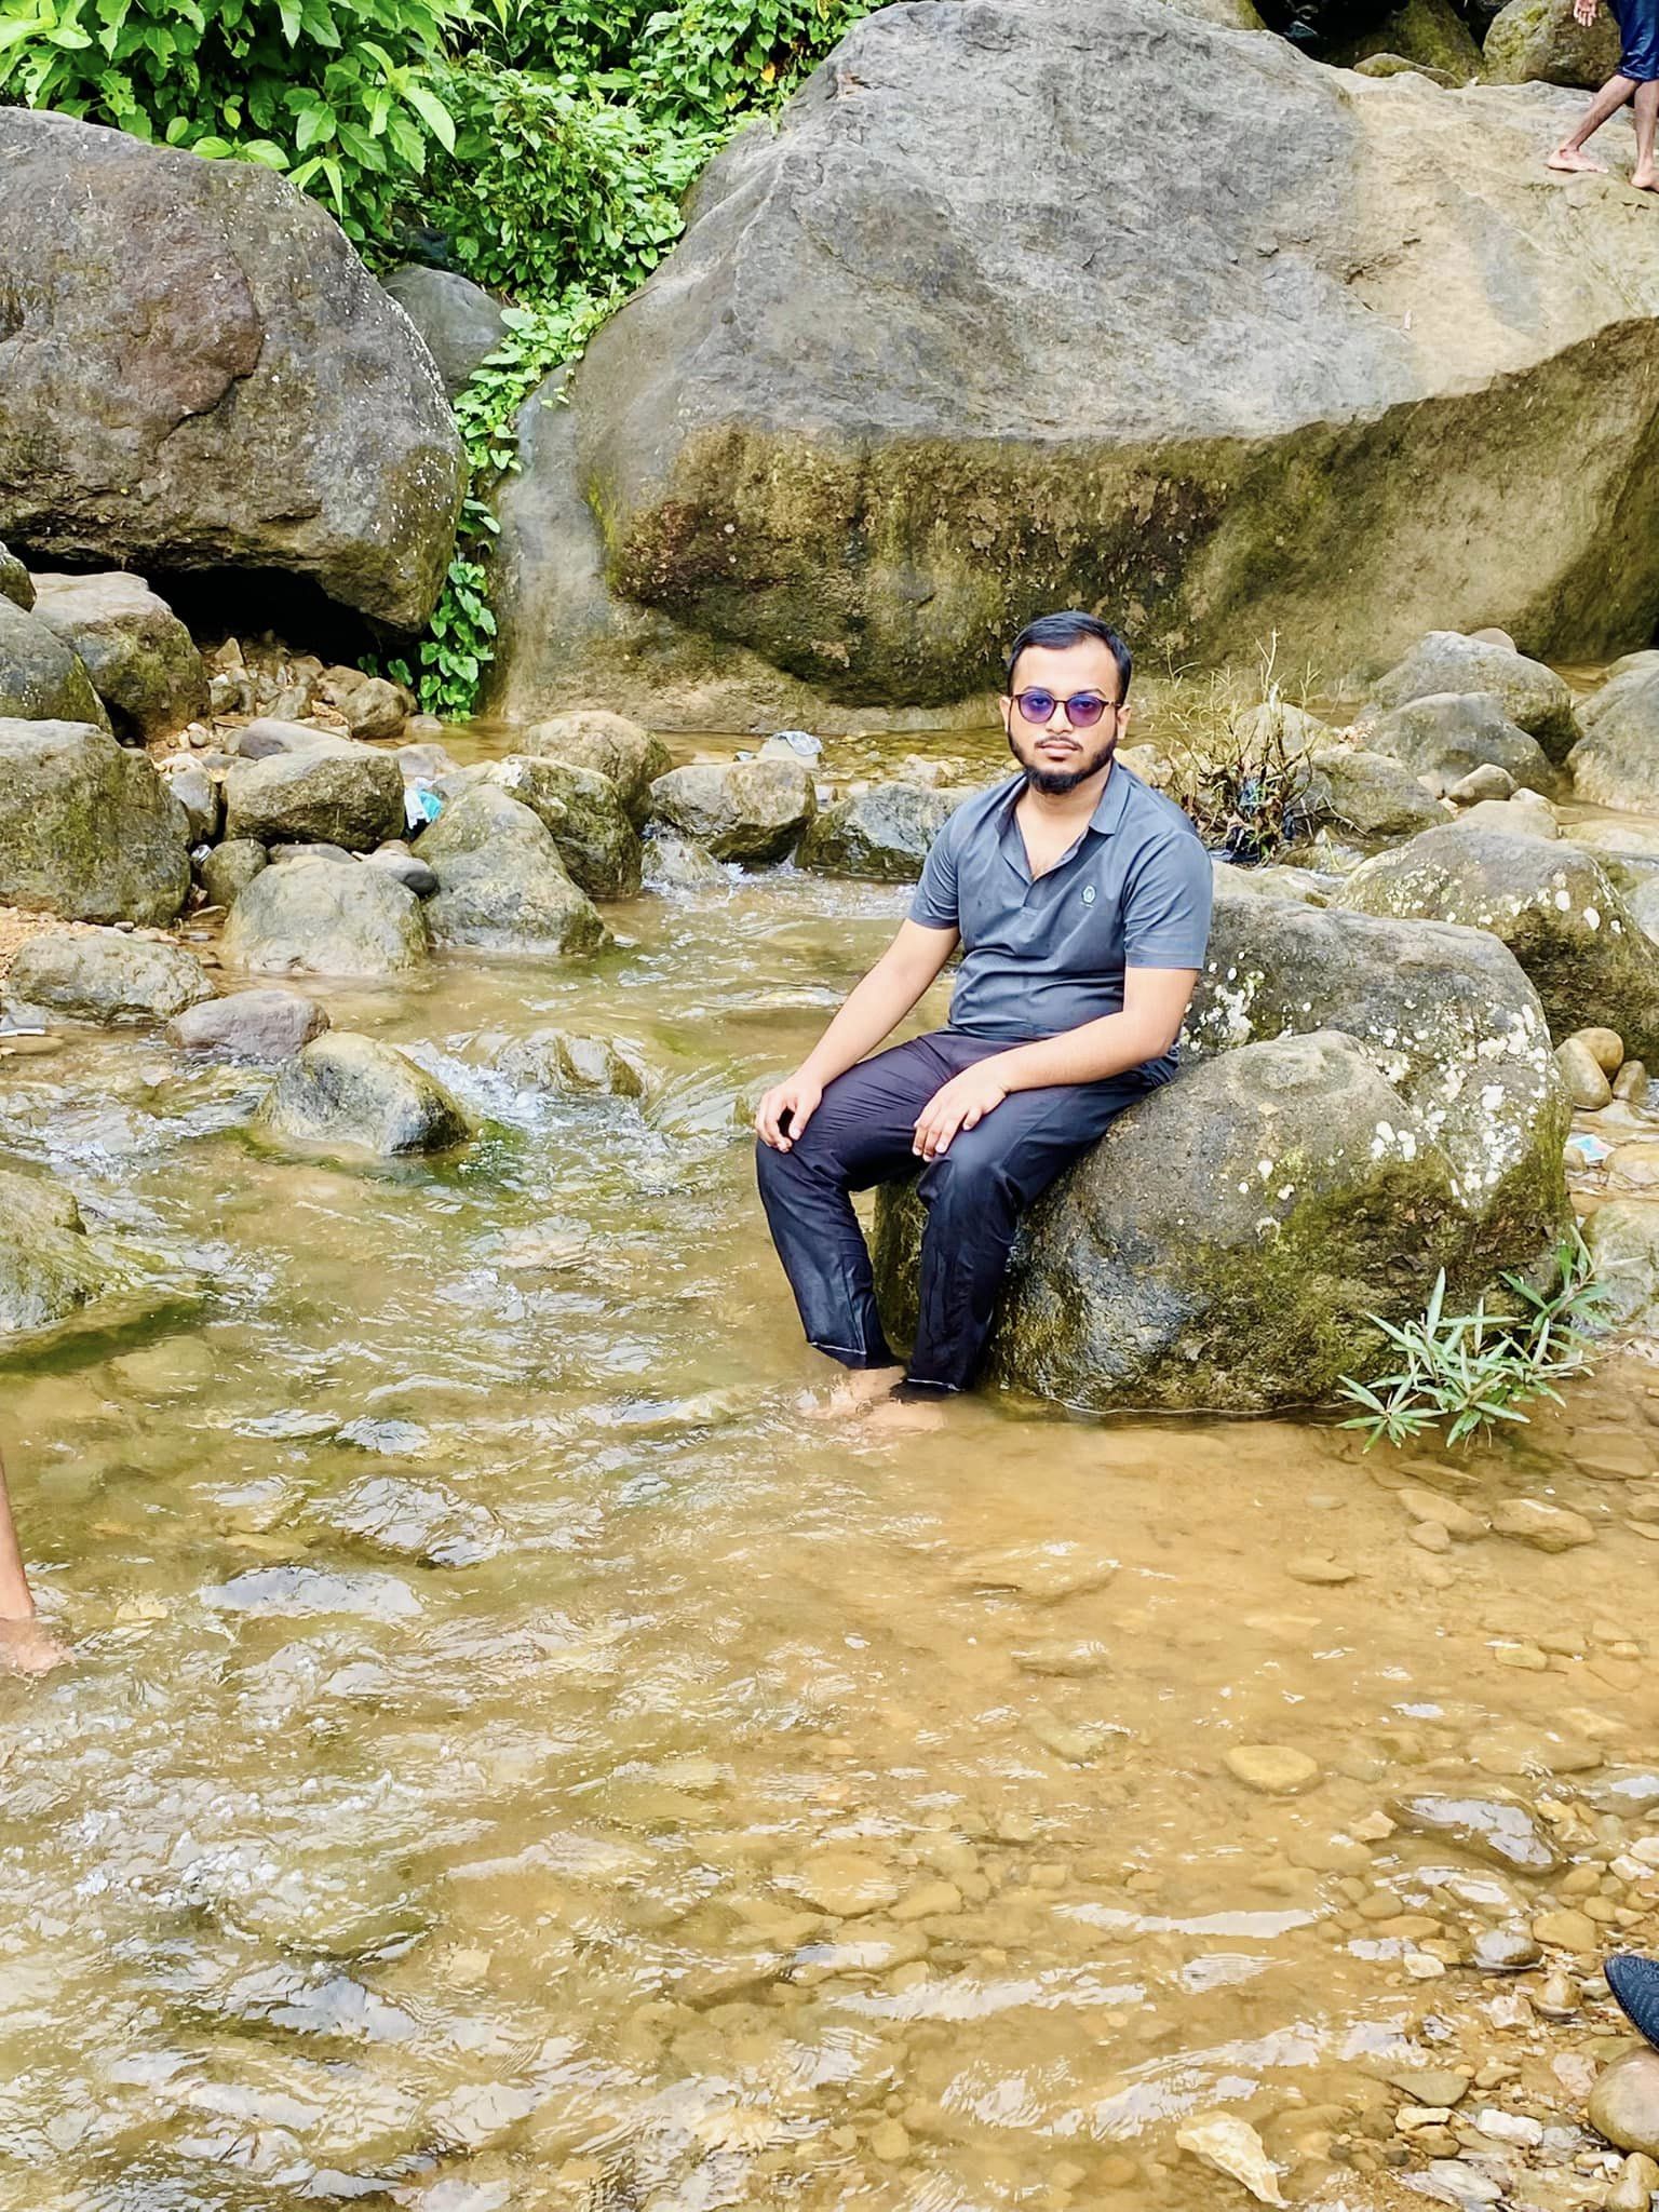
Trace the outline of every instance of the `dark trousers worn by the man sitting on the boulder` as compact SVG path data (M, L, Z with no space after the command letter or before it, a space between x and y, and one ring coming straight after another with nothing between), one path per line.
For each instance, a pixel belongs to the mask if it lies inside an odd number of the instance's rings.
M991 1332L1020 1214L1159 1082L1135 1068L1102 1084L1013 1091L978 1128L962 1130L949 1152L922 1166L911 1150L922 1106L962 1068L1004 1051L1006 1044L951 1029L896 1044L830 1084L794 1150L757 1148L761 1201L801 1325L843 1367L896 1365L876 1314L852 1190L920 1168L916 1190L927 1234L909 1380L967 1389Z

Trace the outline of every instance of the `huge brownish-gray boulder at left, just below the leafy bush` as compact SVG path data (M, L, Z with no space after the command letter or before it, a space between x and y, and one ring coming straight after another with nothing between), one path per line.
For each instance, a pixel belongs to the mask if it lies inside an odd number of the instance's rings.
M40 562L288 568L427 619L462 491L431 356L314 201L0 108L0 515Z

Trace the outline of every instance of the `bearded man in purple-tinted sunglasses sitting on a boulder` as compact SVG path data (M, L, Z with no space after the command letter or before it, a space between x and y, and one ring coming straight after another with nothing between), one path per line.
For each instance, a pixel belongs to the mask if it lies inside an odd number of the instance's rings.
M876 967L757 1115L761 1199L807 1338L854 1369L836 1407L962 1391L1022 1212L1175 1075L1210 933L1192 823L1113 754L1130 655L1093 615L1044 615L1009 657L1020 774L969 799ZM865 1060L956 947L949 1029ZM887 1349L849 1192L920 1168L920 1327Z

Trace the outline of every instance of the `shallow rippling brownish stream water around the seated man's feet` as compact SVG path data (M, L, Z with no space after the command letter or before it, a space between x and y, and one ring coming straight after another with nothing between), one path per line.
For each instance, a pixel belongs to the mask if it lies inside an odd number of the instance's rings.
M77 1644L0 1681L4 2212L1243 2205L1175 2143L1217 2106L1369 2205L1389 2068L1502 2046L1575 2117L1606 2008L1500 2033L1462 1964L1559 1878L1378 1809L1542 1796L1573 1902L1652 1931L1641 1812L1584 1801L1659 1719L1650 1371L1455 1462L812 1418L741 1102L902 902L781 872L327 993L482 1117L453 1164L259 1150L265 1077L144 1035L7 1068L0 1148L210 1296L0 1383ZM661 1091L491 1071L549 1022ZM1595 1540L1425 1551L1402 1484Z

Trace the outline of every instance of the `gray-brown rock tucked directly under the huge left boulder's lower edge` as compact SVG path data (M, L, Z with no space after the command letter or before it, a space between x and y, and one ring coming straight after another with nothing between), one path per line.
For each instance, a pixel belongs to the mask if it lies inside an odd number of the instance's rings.
M208 670L142 575L35 575L35 617L71 646L122 732L177 737L208 712Z

